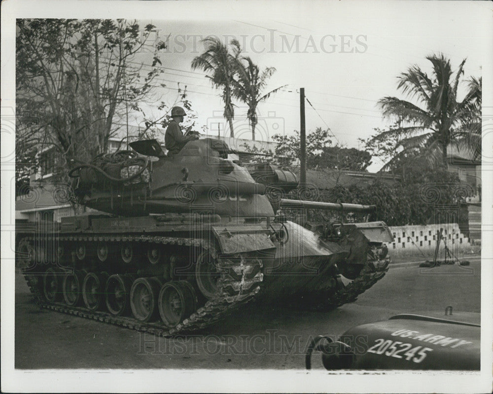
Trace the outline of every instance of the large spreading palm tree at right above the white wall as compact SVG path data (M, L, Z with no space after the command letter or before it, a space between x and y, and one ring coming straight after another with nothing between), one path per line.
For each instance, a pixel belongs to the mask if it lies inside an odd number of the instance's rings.
M400 139L402 151L392 160L419 151L432 167L447 166L447 146L456 144L476 151L481 146L481 78L471 78L464 99L457 101L457 89L463 75L465 59L453 76L450 61L444 55L426 57L433 67L431 76L414 65L398 77L397 88L417 105L396 97L378 102L383 116L396 120L390 130L374 140ZM392 162L391 160L391 162ZM389 165L391 162L387 163Z

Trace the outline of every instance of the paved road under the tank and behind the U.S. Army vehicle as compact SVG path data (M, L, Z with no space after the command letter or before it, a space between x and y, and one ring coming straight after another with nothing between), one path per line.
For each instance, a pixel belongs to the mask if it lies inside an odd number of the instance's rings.
M207 331L176 339L40 310L16 275L15 367L303 368L313 335L340 335L356 324L448 305L480 312L480 268L478 260L469 267L398 266L356 302L328 313L248 305Z

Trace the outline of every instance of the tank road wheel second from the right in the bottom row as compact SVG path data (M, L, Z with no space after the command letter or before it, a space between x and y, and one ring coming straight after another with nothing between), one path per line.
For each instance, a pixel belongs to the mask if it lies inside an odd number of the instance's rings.
M156 278L139 278L130 290L130 308L140 322L155 320L161 283Z

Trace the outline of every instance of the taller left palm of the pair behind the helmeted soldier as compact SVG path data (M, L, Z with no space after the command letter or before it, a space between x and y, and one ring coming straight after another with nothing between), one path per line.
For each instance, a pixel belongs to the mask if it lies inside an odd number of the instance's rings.
M231 53L228 46L224 45L219 38L206 37L202 42L206 51L193 59L192 69L202 69L209 72L211 75L207 75L207 77L211 79L212 86L222 88L224 117L229 123L230 136L234 137L235 110L231 99L235 64L241 52L240 43L237 40L231 40Z

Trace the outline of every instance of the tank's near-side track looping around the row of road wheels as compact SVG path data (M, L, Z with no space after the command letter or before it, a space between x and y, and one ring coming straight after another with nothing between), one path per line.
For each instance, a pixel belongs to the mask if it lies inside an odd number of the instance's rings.
M195 246L211 252L213 257L217 257L217 252L214 247L201 239L189 239L189 238L173 238L173 237L152 237L152 236L111 236L111 237L83 237L83 236L70 236L59 237L62 241L141 241L161 243L165 245L182 245L182 246ZM27 241L33 241L33 238L25 239ZM232 272L231 264L220 263L220 260L216 263L216 269L221 273L221 279L219 281L219 293L216 297L208 300L204 306L197 309L192 315L185 319L182 323L178 324L172 329L164 327L160 323L148 322L143 323L132 317L113 316L107 312L92 312L82 307L68 306L62 302L49 303L44 299L41 290L41 284L39 283L38 275L25 274L24 277L34 295L35 302L44 309L49 309L68 315L74 315L85 319L96 320L99 322L106 322L122 327L127 327L140 332L147 332L149 334L158 336L176 336L181 333L191 332L198 329L207 327L208 325L215 323L234 310L238 309L242 305L252 300L260 290L260 283L263 280L262 273L255 273L260 271L261 262L254 261L253 263L246 263L242 261L241 267L238 267L241 271L240 275L234 272L238 272L238 269ZM257 265L248 269L251 265ZM258 268L258 269L257 269ZM248 273L255 273L252 278L249 278ZM233 275L231 275L233 274ZM233 288L238 291L238 294L227 295L225 288Z

